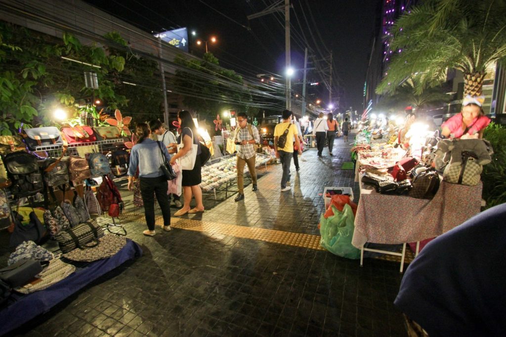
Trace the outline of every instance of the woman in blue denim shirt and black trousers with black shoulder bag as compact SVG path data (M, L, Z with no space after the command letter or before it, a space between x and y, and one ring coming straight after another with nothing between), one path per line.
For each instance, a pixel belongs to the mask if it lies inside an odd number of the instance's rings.
M163 215L163 230L171 230L171 203L167 197L167 179L160 169L163 163L162 152L167 161L171 159L171 156L168 154L167 148L164 146L160 147L157 141L149 138L151 131L148 124L138 123L135 133L139 140L130 152L128 189L132 190L134 188L134 176L137 168L139 168L141 195L144 201L144 216L148 225L148 229L143 231L143 234L153 236L156 234L155 195Z

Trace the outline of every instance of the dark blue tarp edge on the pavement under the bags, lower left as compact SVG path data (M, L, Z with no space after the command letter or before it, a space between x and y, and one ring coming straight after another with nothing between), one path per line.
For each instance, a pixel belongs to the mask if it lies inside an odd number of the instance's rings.
M91 262L84 268L77 269L60 282L28 295L15 294L16 302L0 311L0 335L21 326L30 319L49 311L80 288L99 278L123 262L142 255L141 247L130 239L116 255Z

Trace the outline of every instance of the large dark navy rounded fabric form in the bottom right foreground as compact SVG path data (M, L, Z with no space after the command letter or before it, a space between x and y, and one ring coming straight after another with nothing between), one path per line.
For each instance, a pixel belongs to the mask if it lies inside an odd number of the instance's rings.
M506 204L436 237L411 262L395 306L434 336L506 331Z

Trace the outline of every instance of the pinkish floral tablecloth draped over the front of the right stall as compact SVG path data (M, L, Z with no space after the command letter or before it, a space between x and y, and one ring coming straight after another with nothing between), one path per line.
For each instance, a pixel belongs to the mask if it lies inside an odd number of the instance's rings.
M432 200L361 193L352 244L403 244L441 235L480 212L481 190L481 182L442 181Z

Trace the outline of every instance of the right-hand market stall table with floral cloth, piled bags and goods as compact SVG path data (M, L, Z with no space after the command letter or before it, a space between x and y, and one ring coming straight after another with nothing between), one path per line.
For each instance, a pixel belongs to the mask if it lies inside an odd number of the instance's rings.
M401 257L402 272L406 243L416 242L418 254L421 240L441 235L480 212L481 167L470 173L464 171L466 165L450 165L450 153L445 156L447 150L443 151L442 145L438 153L429 140L434 138L433 132L426 129L418 133L410 129L405 141L400 131L390 133L373 139L377 132L364 129L352 148L355 181L360 186L352 245L361 250L361 265L364 251L392 254ZM435 153L446 158L444 168L438 167L438 171L433 167ZM474 158L471 164L479 166ZM450 168L461 170L461 176L477 174L478 179L452 180ZM389 252L364 248L366 243L403 244L403 248L401 253Z

